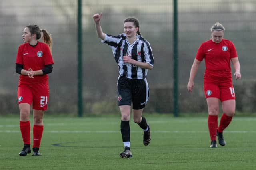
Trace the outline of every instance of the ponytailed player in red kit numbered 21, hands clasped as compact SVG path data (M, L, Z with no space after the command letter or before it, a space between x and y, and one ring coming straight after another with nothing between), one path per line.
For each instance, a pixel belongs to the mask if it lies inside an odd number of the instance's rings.
M43 42L38 41L41 38ZM44 130L43 115L49 101L48 75L54 64L51 54L52 38L37 25L24 28L24 43L18 48L16 73L20 74L18 84L18 105L20 109L20 131L24 147L19 153L26 156L30 149L30 106L33 108L33 156L40 156L39 147Z

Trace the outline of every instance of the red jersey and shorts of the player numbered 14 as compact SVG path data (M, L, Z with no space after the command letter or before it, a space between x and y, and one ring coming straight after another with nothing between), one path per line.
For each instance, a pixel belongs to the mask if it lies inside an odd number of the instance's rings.
M216 97L221 102L235 99L230 61L236 57L236 48L230 40L222 39L220 43L208 40L200 45L196 59L205 60L204 93L206 98ZM220 89L216 87L216 83L219 83Z

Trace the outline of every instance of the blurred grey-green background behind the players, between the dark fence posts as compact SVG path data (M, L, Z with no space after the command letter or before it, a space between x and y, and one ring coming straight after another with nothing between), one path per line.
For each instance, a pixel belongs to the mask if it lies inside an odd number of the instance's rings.
M255 113L256 1L178 0L179 105L181 112L207 112L203 92L204 62L189 94L186 84L200 43L210 39L210 28L220 22L224 38L234 42L242 80L234 80L237 111ZM172 112L172 18L171 0L83 0L83 99L85 114L118 113L118 67L111 49L97 38L92 15L103 12L103 31L123 32L124 19L140 20L140 32L151 44L154 69L148 72L148 113ZM18 74L15 59L22 31L38 24L52 34L54 70L49 75L47 113L77 111L77 0L0 1L0 114L17 113ZM234 72L234 71L233 71Z

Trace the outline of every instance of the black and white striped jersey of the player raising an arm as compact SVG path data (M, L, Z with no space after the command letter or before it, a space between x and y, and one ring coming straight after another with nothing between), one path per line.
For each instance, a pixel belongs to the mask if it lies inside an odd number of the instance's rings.
M137 40L130 44L126 39L126 34L112 36L106 34L102 43L108 44L112 49L116 63L118 64L119 74L128 79L144 79L147 76L148 69L137 67L130 63L123 62L123 56L130 56L132 59L154 65L152 49L147 40L142 36L137 36Z

